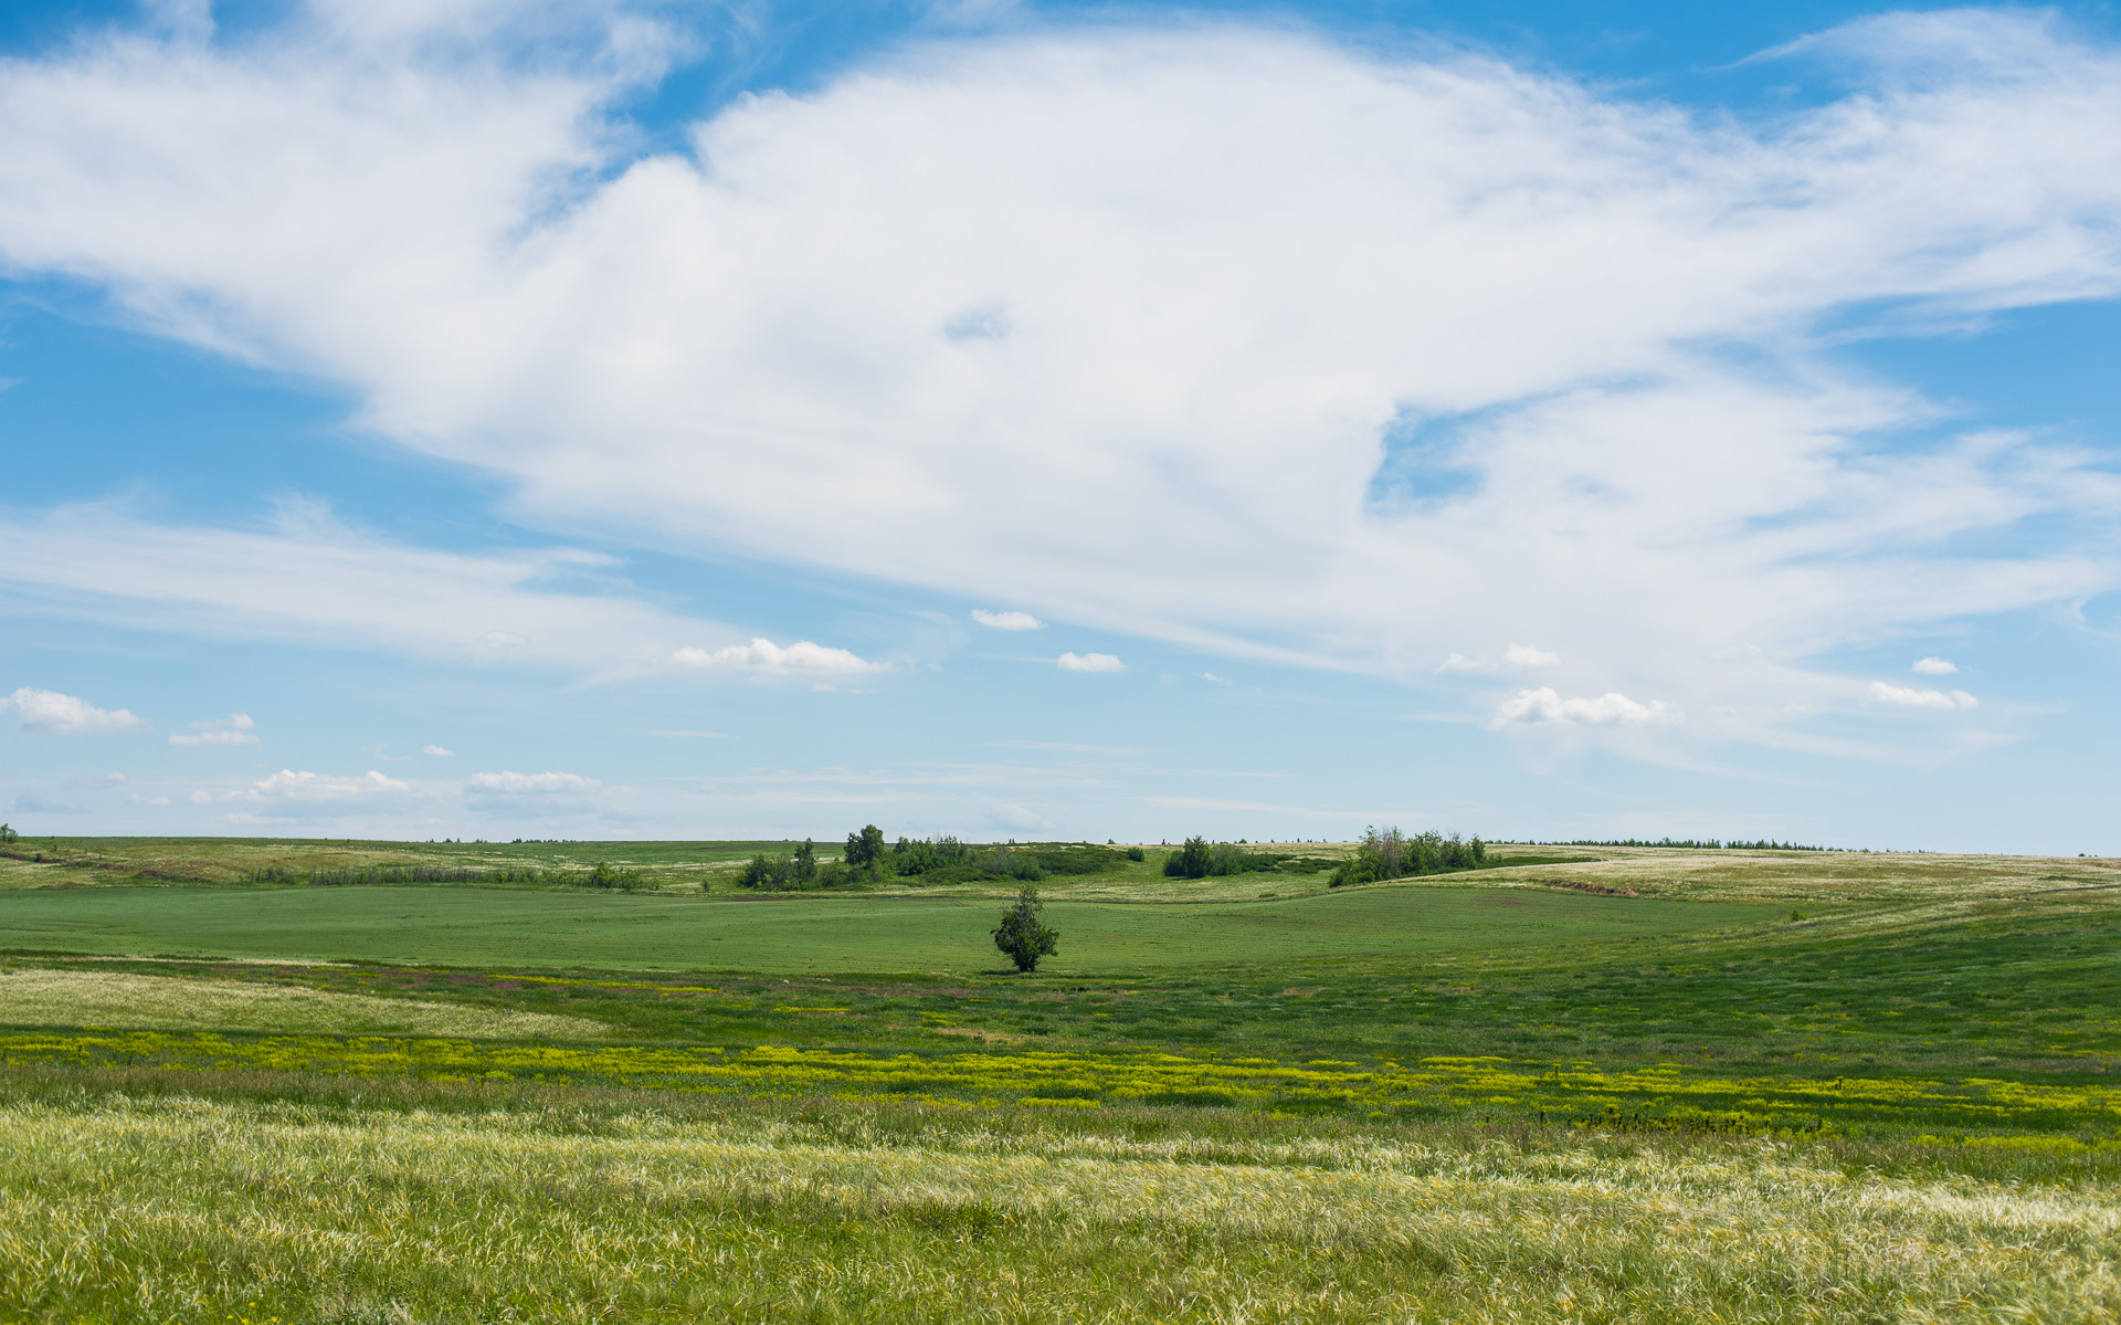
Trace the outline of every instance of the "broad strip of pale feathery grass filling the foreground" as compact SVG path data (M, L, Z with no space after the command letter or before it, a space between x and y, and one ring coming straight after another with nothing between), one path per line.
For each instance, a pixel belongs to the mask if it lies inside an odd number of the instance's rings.
M13 1104L0 1317L2110 1321L2115 1195L1788 1145Z

